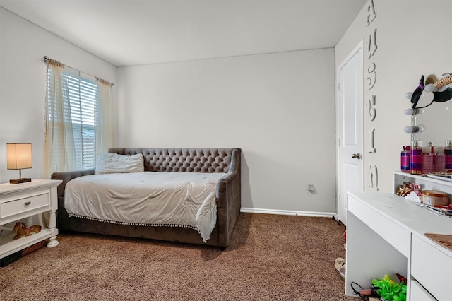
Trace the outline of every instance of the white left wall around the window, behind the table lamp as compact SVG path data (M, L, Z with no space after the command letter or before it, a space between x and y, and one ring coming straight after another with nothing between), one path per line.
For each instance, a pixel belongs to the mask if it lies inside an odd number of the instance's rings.
M116 82L116 66L72 45L0 7L0 182L18 177L6 169L6 143L32 143L32 169L23 177L42 177L44 152L44 55L73 68Z

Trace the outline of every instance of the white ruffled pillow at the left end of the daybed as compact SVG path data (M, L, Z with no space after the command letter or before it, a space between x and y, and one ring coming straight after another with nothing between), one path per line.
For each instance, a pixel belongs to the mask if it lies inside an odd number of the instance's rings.
M117 172L143 172L143 154L118 155L117 153L100 153L97 155L94 174L111 174Z

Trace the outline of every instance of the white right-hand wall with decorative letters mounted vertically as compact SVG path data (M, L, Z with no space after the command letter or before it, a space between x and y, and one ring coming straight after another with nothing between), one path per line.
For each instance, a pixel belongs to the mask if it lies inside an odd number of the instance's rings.
M403 131L405 126L410 125L410 117L403 112L411 107L405 93L415 90L422 75L436 74L441 78L442 73L452 72L452 1L374 0L376 18L367 27L369 4L370 0L336 45L335 64L337 68L362 39L366 41L364 49L368 49L369 35L374 29L377 30L378 48L374 56L367 59L367 53L364 54L365 68L369 68L374 62L377 73L374 88L364 89L364 102L368 102L371 95L376 95L374 121L370 120L369 106L364 107L365 189L376 190L376 187L370 187L369 179L369 166L376 165L379 191L392 192L392 172L400 170L400 151L403 145L410 145L410 135ZM367 78L366 71L364 75ZM426 109L426 114L434 110L448 110L451 105L452 101L445 102L443 106L435 103ZM424 143L432 141L436 145L442 145L442 140L434 138L432 131L435 132L435 137L450 139L451 120L451 115L436 120L437 124L442 125L437 130L432 130L433 121L422 121L426 131L417 138L421 138ZM376 153L368 153L371 129L375 129Z

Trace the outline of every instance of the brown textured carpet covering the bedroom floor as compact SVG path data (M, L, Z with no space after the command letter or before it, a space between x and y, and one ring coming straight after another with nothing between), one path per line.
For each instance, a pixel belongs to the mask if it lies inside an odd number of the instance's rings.
M0 269L0 300L358 300L334 260L345 227L331 218L241 213L225 251L62 233Z

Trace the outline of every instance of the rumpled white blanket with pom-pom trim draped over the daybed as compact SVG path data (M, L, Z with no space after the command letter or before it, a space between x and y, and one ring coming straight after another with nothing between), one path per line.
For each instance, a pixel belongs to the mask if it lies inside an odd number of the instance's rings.
M126 225L198 230L204 242L217 220L216 183L225 173L133 172L87 175L66 184L69 216Z

